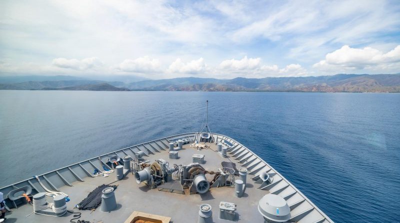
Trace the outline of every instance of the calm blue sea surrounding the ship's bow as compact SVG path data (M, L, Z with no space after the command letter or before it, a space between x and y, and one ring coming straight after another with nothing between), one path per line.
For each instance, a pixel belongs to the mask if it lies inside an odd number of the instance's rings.
M400 219L400 94L0 91L0 187L129 145L211 131L335 222Z

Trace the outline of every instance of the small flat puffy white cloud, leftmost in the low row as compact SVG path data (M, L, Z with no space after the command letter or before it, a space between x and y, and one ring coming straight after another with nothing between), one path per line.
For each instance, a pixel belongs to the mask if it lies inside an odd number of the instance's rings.
M59 68L66 68L72 70L88 70L95 69L102 65L101 61L96 57L77 59L55 58L52 65Z

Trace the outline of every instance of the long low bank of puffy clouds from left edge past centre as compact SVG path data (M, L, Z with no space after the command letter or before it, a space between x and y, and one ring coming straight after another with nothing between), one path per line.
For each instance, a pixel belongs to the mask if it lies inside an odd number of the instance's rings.
M207 66L203 58L182 61L180 58L168 67L163 67L157 59L148 56L133 60L124 60L117 65L99 64L97 58L82 60L56 58L51 65L37 63L23 63L16 66L11 61L0 61L0 73L14 74L40 74L40 75L127 75L134 73L136 76L165 79L174 77L214 77L229 79L236 77L265 78L265 77L297 77L307 76L307 71L299 64L290 64L281 69L277 65L264 65L260 58L244 56L240 60L224 60L217 66ZM99 65L97 65L99 64ZM34 73L31 71L35 71ZM147 76L148 77L148 76Z

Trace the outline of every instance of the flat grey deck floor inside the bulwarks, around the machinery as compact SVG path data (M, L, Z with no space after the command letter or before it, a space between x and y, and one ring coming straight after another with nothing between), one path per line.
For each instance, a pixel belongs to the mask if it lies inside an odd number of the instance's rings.
M216 151L215 144L210 145L210 149L197 151L190 148L190 144L183 145L183 149L179 150L179 159L169 159L168 151L160 151L150 156L145 156L152 163L154 160L162 158L172 164L187 165L192 162L193 154L205 155L205 164L201 164L206 170L216 171L221 168L222 161L229 161L228 158L222 158ZM236 164L237 165L237 164ZM236 166L239 168L239 166ZM70 201L67 202L68 210L81 212L81 218L91 222L124 222L133 211L141 211L151 214L171 217L171 222L197 222L198 210L200 204L207 203L212 207L212 215L214 222L233 222L218 218L219 202L227 201L237 205L237 213L239 219L237 222L263 222L262 216L257 210L258 200L268 191L257 189L259 184L254 184L247 176L247 187L243 197L234 196L234 188L219 187L210 188L210 191L205 194L186 194L171 193L159 191L157 188L149 189L144 183L136 184L134 176L129 173L123 180L115 181L115 173L109 174L108 177L97 176L94 178L86 177L84 182L76 181L73 186L63 186L60 191L69 195ZM213 175L206 175L210 181ZM115 197L118 207L111 212L101 212L100 208L91 212L90 210L73 209L73 206L79 203L87 194L101 184L118 184L115 190ZM60 217L44 216L39 214L31 214L33 208L31 205L21 205L17 210L8 212L6 223L12 222L69 222L72 218L71 213L67 213Z

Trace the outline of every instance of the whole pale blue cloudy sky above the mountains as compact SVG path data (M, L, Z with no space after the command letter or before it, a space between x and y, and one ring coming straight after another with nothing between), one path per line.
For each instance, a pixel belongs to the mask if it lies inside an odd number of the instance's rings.
M2 0L0 75L400 72L400 2Z

